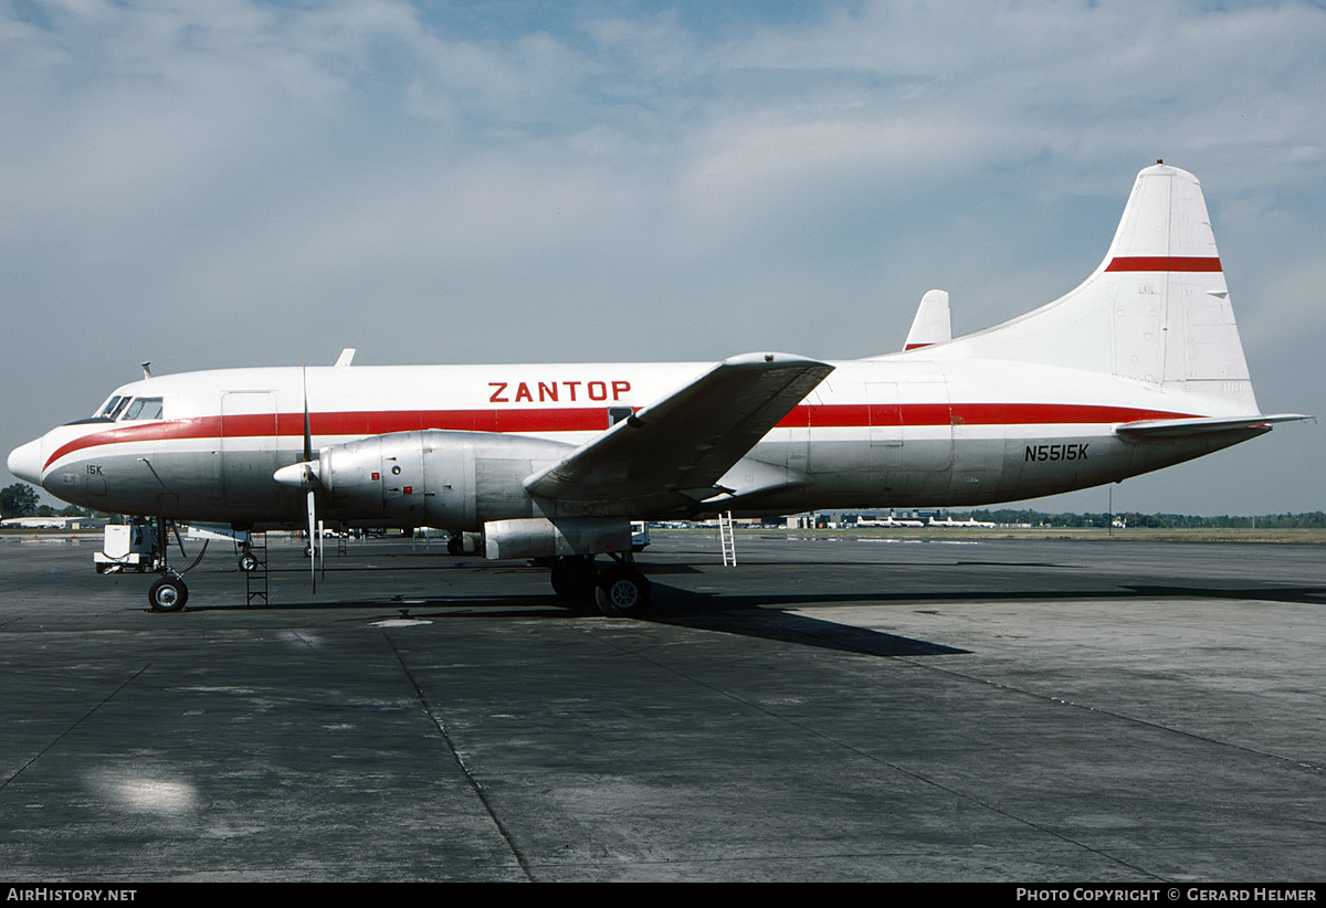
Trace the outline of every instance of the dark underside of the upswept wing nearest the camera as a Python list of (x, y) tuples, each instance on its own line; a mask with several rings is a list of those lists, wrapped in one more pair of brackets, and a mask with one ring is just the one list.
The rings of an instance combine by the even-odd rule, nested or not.
[(525, 489), (560, 510), (586, 513), (644, 514), (708, 498), (831, 371), (781, 353), (725, 359), (534, 473)]

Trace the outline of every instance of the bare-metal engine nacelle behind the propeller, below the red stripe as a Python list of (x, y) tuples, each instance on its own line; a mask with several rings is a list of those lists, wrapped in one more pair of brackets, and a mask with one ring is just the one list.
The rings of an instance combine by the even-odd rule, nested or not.
[(391, 432), (324, 448), (318, 479), (333, 516), (477, 530), (538, 517), (522, 482), (572, 449), (522, 435)]

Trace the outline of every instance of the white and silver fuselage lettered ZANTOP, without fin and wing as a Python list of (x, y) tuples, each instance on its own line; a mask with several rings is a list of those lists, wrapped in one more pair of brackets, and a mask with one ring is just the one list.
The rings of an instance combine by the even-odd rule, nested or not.
[[(1138, 444), (1115, 427), (1232, 414), (1215, 398), (1059, 366), (934, 361), (924, 350), (833, 366), (723, 477), (719, 485), (729, 492), (692, 513), (1029, 498), (1166, 467), (1264, 431)], [(272, 477), (304, 459), (305, 406), (314, 452), (422, 429), (522, 435), (570, 449), (705, 369), (708, 363), (337, 366), (163, 375), (115, 391), (150, 403), (138, 418), (127, 418), (134, 408), (122, 406), (118, 419), (58, 427), (17, 449), (9, 463), (53, 494), (97, 510), (300, 525), (300, 492)], [(528, 494), (496, 510), (503, 509), (514, 513), (489, 508), (475, 520), (541, 513)], [(329, 520), (358, 517), (338, 512), (334, 501), (322, 513)]]

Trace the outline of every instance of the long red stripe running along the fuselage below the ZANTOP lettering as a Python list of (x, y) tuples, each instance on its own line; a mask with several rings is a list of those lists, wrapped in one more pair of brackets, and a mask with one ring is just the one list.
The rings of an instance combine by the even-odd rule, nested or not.
[[(1070, 403), (904, 403), (800, 404), (778, 428), (867, 428), (924, 426), (1063, 426), (1115, 424), (1143, 419), (1188, 419), (1179, 414), (1138, 407)], [(318, 437), (363, 437), (389, 432), (452, 429), (465, 432), (598, 432), (607, 428), (603, 407), (511, 410), (387, 410), (310, 414)], [(200, 416), (160, 423), (119, 426), (90, 432), (60, 445), (42, 469), (76, 451), (134, 441), (215, 440), (304, 436), (304, 414)]]

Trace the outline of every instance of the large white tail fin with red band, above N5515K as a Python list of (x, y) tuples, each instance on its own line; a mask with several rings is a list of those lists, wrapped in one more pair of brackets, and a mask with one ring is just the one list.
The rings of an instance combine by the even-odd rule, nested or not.
[(1162, 163), (1138, 174), (1105, 261), (1075, 290), (934, 354), (1083, 369), (1258, 412), (1201, 184)]

